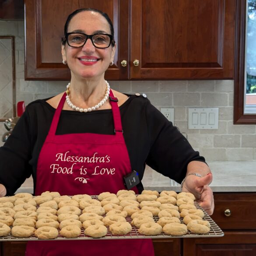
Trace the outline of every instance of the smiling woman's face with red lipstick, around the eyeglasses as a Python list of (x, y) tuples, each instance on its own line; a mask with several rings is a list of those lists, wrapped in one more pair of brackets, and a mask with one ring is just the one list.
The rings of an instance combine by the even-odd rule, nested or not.
[[(76, 14), (70, 21), (67, 32), (81, 32), (87, 35), (105, 33), (111, 34), (108, 21), (99, 13), (83, 11)], [(90, 39), (80, 48), (62, 46), (63, 60), (71, 70), (71, 74), (81, 78), (104, 77), (105, 70), (113, 61), (116, 45), (99, 49), (93, 46)], [(94, 60), (94, 61), (92, 61)], [(96, 61), (95, 61), (96, 60)]]

